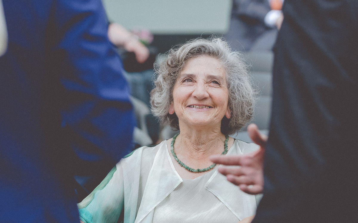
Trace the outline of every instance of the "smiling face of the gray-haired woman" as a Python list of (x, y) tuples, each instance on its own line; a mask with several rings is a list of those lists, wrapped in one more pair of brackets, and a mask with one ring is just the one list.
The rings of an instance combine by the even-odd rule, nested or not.
[(224, 67), (210, 56), (189, 59), (173, 89), (169, 114), (189, 126), (220, 127), (230, 118), (229, 94)]

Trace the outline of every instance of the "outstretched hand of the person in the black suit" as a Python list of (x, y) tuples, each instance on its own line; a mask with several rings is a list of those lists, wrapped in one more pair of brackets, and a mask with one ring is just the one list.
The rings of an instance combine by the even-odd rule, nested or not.
[(216, 164), (241, 166), (235, 168), (219, 167), (218, 171), (225, 175), (227, 180), (248, 194), (259, 194), (263, 190), (263, 156), (267, 136), (261, 135), (255, 124), (247, 127), (247, 132), (251, 140), (260, 146), (252, 153), (245, 155), (213, 155), (211, 161)]

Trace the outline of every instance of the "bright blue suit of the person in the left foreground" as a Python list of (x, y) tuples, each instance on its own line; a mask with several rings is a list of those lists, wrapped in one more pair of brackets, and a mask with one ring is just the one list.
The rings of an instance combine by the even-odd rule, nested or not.
[(0, 222), (77, 222), (74, 175), (130, 152), (134, 113), (100, 0), (3, 0)]

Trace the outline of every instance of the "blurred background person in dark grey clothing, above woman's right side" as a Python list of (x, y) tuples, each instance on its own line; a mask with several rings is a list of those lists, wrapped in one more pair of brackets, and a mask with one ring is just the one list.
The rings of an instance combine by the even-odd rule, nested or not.
[(271, 51), (282, 23), (282, 2), (233, 0), (229, 30), (223, 37), (237, 51)]

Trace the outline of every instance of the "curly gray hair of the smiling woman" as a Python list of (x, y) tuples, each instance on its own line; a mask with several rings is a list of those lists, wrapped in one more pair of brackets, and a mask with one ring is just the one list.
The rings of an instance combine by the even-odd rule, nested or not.
[(155, 88), (150, 92), (151, 111), (162, 123), (179, 130), (178, 117), (168, 112), (173, 102), (173, 88), (185, 63), (202, 55), (218, 59), (225, 69), (231, 118), (223, 117), (221, 132), (233, 134), (252, 118), (256, 91), (251, 87), (248, 65), (242, 54), (232, 51), (228, 43), (220, 38), (198, 38), (169, 50), (168, 58), (155, 70)]

